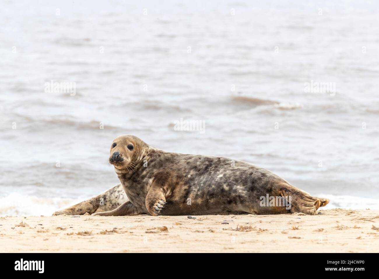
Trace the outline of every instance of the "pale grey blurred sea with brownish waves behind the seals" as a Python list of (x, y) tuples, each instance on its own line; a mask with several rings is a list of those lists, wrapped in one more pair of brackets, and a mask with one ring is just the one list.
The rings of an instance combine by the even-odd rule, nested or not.
[[(326, 208), (379, 209), (377, 1), (4, 0), (0, 11), (1, 216), (50, 215), (118, 183), (106, 159), (120, 134), (265, 167)], [(51, 80), (76, 95), (45, 92)], [(306, 92), (311, 81), (335, 95)], [(204, 134), (175, 131), (180, 118)]]

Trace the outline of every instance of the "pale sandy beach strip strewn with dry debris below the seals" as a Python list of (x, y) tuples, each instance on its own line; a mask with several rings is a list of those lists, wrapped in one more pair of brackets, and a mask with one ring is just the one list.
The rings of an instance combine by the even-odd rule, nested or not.
[(5, 216), (0, 252), (379, 252), (379, 210), (192, 217)]

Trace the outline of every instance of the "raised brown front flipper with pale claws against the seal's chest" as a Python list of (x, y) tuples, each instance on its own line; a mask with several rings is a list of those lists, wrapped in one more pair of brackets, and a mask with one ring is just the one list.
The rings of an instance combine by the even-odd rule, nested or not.
[(164, 210), (169, 178), (170, 175), (168, 173), (158, 173), (155, 175), (150, 189), (147, 192), (145, 205), (147, 211), (149, 211), (152, 216), (160, 215), (161, 210)]

